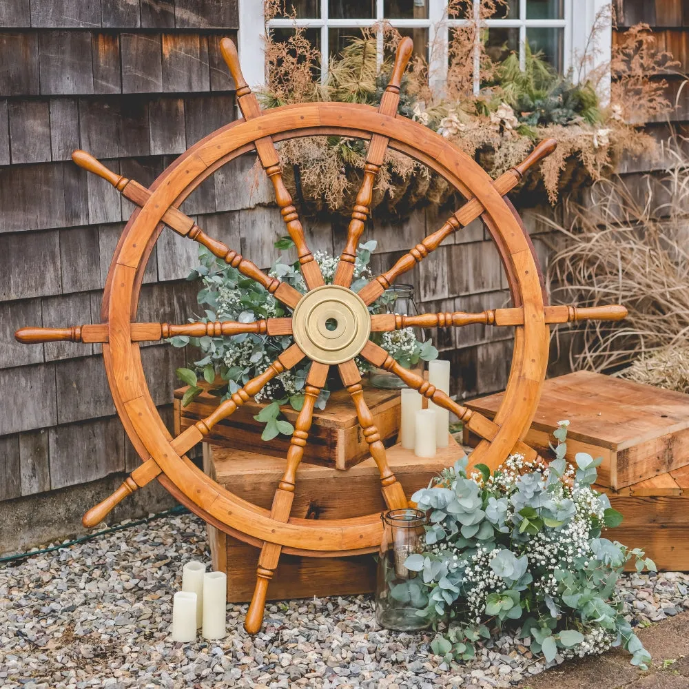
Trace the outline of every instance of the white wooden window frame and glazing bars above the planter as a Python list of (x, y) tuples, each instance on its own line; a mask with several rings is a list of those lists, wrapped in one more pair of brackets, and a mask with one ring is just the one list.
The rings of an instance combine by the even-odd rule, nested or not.
[[(524, 65), (524, 45), (526, 43), (527, 28), (562, 28), (564, 30), (563, 46), (563, 68), (564, 71), (575, 66), (577, 55), (583, 54), (586, 49), (586, 42), (593, 28), (593, 24), (599, 12), (609, 6), (610, 0), (564, 0), (563, 19), (526, 19), (526, 0), (520, 0), (520, 19), (488, 19), (484, 22), (486, 27), (491, 28), (518, 28), (520, 30), (520, 63)], [(385, 19), (395, 28), (425, 28), (429, 32), (429, 56), (431, 62), (429, 70), (431, 82), (435, 88), (441, 88), (447, 74), (447, 45), (449, 30), (453, 26), (462, 25), (466, 20), (448, 19), (446, 17), (447, 0), (429, 0), (429, 17), (426, 19), (387, 19), (384, 17), (384, 0), (376, 0), (376, 17), (373, 19), (328, 19), (328, 0), (320, 0), (319, 19), (271, 19), (268, 28), (303, 28), (320, 29), (320, 50), (323, 56), (329, 54), (328, 29), (329, 28), (365, 28), (375, 26)], [(574, 17), (576, 7), (577, 16)], [(263, 0), (239, 0), (240, 9), (240, 28), (239, 28), (239, 49), (240, 58), (247, 82), (251, 86), (261, 86), (265, 84), (265, 58), (263, 45), (265, 40), (265, 18), (263, 14)], [(474, 4), (475, 17), (478, 17), (479, 0)], [(610, 61), (610, 50), (612, 48), (612, 24), (608, 13), (608, 26), (597, 39), (595, 45), (596, 54), (593, 67), (608, 63)], [(382, 59), (382, 34), (378, 34), (379, 49), (378, 53)], [(478, 41), (475, 50), (475, 81), (474, 90), (478, 92), (480, 87), (478, 81)], [(435, 48), (433, 48), (435, 46)], [(575, 78), (577, 74), (574, 75)], [(582, 74), (581, 76), (586, 76)], [(321, 79), (327, 77), (327, 59), (322, 61)], [(609, 84), (609, 77), (603, 86), (606, 89)]]

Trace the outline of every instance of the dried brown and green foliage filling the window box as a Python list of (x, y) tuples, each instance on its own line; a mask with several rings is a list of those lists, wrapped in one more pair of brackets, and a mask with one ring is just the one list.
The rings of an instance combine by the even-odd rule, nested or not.
[[(267, 17), (285, 15), (285, 0), (268, 0)], [(449, 70), (442, 92), (429, 87), (429, 64), (414, 56), (402, 82), (400, 114), (449, 138), (469, 156), (477, 158), (491, 175), (498, 176), (516, 165), (538, 141), (557, 138), (555, 154), (541, 167), (542, 185), (555, 203), (564, 181), (568, 190), (584, 181), (600, 181), (610, 174), (622, 152), (631, 156), (656, 154), (655, 141), (639, 124), (669, 112), (664, 81), (658, 79), (677, 66), (672, 57), (657, 49), (648, 26), (638, 25), (621, 34), (608, 65), (593, 68), (597, 61), (596, 32), (608, 26), (606, 10), (597, 15), (584, 54), (579, 56), (579, 76), (559, 76), (541, 54), (526, 50), (526, 65), (511, 54), (496, 62), (486, 50), (485, 22), (504, 6), (504, 0), (451, 0), (447, 17), (464, 19), (452, 28), (448, 46)], [(609, 29), (608, 29), (609, 30)], [(331, 56), (325, 83), (320, 81), (320, 55), (299, 28), (285, 41), (266, 41), (269, 79), (260, 94), (264, 107), (307, 101), (342, 101), (378, 105), (391, 70), (376, 56), (376, 37), (382, 34), (386, 54), (401, 36), (384, 23), (364, 30), (338, 56)], [(440, 46), (431, 46), (431, 52)], [(436, 56), (431, 64), (437, 64)], [(474, 70), (479, 67), (481, 89), (475, 94)], [(606, 87), (604, 74), (613, 74), (611, 101), (602, 107), (599, 92)], [(361, 141), (320, 137), (282, 144), (282, 161), (294, 167), (292, 187), (316, 209), (345, 211), (360, 183), (366, 146)], [(583, 169), (583, 172), (582, 172)], [(378, 179), (376, 203), (395, 206), (409, 189), (422, 200), (413, 177), (422, 172), (431, 187), (447, 189), (419, 163), (389, 154)], [(289, 177), (289, 174), (288, 174)], [(532, 176), (531, 187), (536, 188)], [(300, 187), (301, 185), (301, 187)], [(443, 194), (437, 194), (444, 198)], [(409, 203), (404, 206), (409, 208)]]

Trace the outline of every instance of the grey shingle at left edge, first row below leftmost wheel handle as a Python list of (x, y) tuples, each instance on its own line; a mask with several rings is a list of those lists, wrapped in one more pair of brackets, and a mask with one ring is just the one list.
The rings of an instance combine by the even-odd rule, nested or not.
[(0, 369), (3, 390), (21, 390), (0, 411), (3, 434), (54, 426), (57, 422), (55, 364)]

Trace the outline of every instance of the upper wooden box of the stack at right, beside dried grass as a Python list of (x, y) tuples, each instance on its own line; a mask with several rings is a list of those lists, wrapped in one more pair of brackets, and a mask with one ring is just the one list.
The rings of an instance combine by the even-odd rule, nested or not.
[[(502, 393), (466, 402), (493, 418)], [(689, 464), (689, 395), (577, 371), (546, 380), (526, 444), (549, 456), (560, 420), (569, 420), (567, 458), (603, 457), (598, 483), (619, 491)], [(464, 444), (477, 438), (464, 431)]]

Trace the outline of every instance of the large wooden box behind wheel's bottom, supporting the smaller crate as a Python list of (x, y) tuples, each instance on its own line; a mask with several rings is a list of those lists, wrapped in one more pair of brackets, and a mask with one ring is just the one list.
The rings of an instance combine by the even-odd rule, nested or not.
[[(411, 495), (427, 486), (433, 476), (451, 466), (464, 450), (454, 441), (433, 457), (415, 457), (395, 445), (388, 450), (388, 462), (398, 480)], [(270, 508), (285, 462), (270, 455), (258, 455), (217, 445), (204, 444), (204, 468), (227, 489), (258, 506)], [(382, 512), (376, 464), (369, 457), (348, 471), (302, 464), (297, 474), (292, 515), (313, 520), (345, 519)], [(213, 568), (227, 572), (227, 599), (251, 599), (256, 584), (258, 548), (245, 544), (209, 526)], [(371, 593), (376, 588), (373, 555), (355, 557), (300, 557), (282, 555), (268, 587), (271, 600), (313, 596)]]

